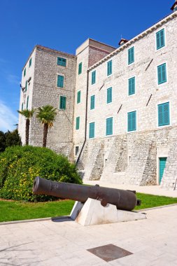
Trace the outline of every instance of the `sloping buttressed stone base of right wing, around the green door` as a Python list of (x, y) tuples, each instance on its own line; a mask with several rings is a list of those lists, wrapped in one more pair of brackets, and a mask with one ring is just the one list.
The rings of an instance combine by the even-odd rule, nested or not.
[(85, 180), (150, 186), (159, 184), (159, 158), (167, 157), (162, 187), (174, 188), (176, 133), (176, 127), (166, 127), (87, 140), (78, 168)]

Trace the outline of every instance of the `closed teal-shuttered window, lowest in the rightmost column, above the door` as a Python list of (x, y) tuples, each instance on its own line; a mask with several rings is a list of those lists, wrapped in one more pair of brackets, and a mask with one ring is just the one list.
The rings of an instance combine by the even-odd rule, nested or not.
[(169, 125), (169, 102), (158, 104), (158, 126)]

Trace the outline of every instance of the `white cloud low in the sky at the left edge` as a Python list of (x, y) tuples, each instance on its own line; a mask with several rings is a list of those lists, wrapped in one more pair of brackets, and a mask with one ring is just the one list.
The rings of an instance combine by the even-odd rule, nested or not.
[(6, 132), (8, 130), (15, 130), (18, 117), (14, 115), (13, 111), (0, 101), (0, 130)]

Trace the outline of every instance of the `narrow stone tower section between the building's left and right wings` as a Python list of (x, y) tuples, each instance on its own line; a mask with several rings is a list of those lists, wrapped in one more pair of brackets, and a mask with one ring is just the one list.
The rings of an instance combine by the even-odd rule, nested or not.
[[(91, 64), (99, 61), (108, 53), (115, 50), (115, 48), (104, 45), (92, 39), (88, 39), (80, 45), (76, 50), (77, 67), (76, 67), (76, 92), (75, 92), (75, 106), (74, 106), (74, 122), (73, 122), (73, 143), (74, 146), (78, 146), (78, 155), (85, 141), (85, 118), (86, 118), (86, 102), (87, 102), (87, 82), (91, 83), (91, 80), (87, 80), (87, 69)], [(82, 73), (78, 74), (78, 65), (82, 62)], [(77, 94), (80, 91), (80, 103), (77, 103)], [(90, 102), (88, 101), (88, 104)], [(76, 118), (80, 117), (80, 127), (76, 130)], [(78, 157), (75, 156), (75, 158)]]

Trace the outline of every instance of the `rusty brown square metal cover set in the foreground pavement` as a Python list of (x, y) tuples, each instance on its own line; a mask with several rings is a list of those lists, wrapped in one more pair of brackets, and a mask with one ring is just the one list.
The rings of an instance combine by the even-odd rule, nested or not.
[(97, 255), (97, 257), (107, 262), (133, 254), (113, 244), (108, 244), (105, 246), (98, 246), (97, 248), (90, 248), (90, 249), (87, 249), (87, 251), (90, 251), (94, 255)]

